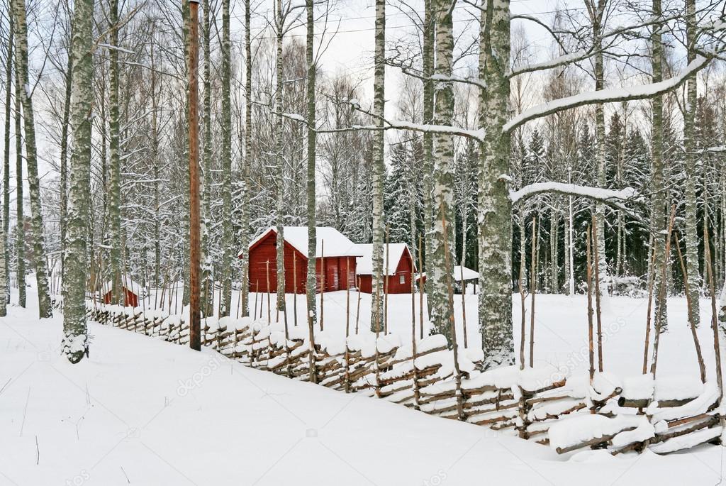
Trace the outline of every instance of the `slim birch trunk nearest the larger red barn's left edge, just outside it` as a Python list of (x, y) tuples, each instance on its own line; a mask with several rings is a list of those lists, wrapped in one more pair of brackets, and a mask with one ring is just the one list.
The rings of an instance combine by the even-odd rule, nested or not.
[[(242, 171), (242, 214), (240, 246), (245, 251), (242, 259), (242, 317), (250, 315), (250, 165), (252, 164), (252, 35), (250, 33), (250, 0), (245, 0), (245, 167)], [(257, 289), (255, 289), (257, 290)], [(315, 294), (313, 293), (313, 300)]]

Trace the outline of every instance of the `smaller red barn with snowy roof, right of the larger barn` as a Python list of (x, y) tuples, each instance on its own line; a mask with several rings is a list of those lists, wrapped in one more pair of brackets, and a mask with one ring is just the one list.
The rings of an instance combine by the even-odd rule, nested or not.
[[(358, 281), (360, 291), (373, 291), (373, 245), (356, 245), (362, 256), (358, 257)], [(411, 277), (416, 271), (411, 252), (406, 243), (388, 243), (388, 269), (386, 269), (386, 245), (383, 245), (383, 269), (386, 274), (384, 285), (388, 293), (411, 293)]]

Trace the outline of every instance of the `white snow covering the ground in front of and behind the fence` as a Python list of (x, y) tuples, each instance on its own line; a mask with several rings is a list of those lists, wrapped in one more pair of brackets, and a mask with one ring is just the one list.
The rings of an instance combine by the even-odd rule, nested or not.
[[(345, 293), (325, 299), (326, 327), (342, 333)], [(476, 296), (468, 299), (470, 343), (476, 344)], [(537, 299), (537, 359), (587, 368), (584, 299)], [(484, 427), (292, 381), (213, 352), (192, 352), (94, 323), (90, 360), (70, 365), (58, 356), (60, 318), (39, 322), (35, 296), (29, 301), (28, 311), (10, 307), (9, 317), (0, 319), (0, 485), (595, 486), (721, 480), (721, 447), (669, 456), (613, 458), (604, 451), (558, 456), (549, 447)], [(517, 296), (514, 302), (518, 325)], [(367, 305), (362, 299), (362, 326)], [(645, 300), (613, 298), (608, 307), (605, 369), (637, 374)], [(708, 309), (706, 301), (702, 308)], [(392, 329), (409, 333), (410, 312), (410, 296), (391, 296)], [(673, 299), (670, 315), (658, 372), (697, 373), (685, 301)], [(708, 326), (700, 332), (710, 371)]]

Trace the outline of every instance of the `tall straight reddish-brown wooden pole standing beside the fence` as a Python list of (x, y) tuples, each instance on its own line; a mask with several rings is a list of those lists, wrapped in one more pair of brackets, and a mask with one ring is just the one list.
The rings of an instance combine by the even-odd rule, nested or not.
[(189, 347), (200, 351), (199, 0), (189, 0)]

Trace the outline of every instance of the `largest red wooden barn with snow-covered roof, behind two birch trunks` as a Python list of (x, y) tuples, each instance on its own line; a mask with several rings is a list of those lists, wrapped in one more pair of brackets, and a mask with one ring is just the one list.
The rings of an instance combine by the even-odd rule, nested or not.
[[(325, 291), (340, 291), (355, 287), (356, 245), (331, 227), (316, 230), (316, 291), (321, 291), (325, 275)], [(285, 293), (305, 293), (308, 266), (308, 228), (285, 226)], [(270, 227), (255, 238), (245, 254), (249, 258), (250, 291), (277, 292), (277, 229)], [(325, 261), (325, 264), (323, 263)], [(322, 267), (325, 265), (325, 272)], [(269, 278), (269, 288), (267, 280)]]

